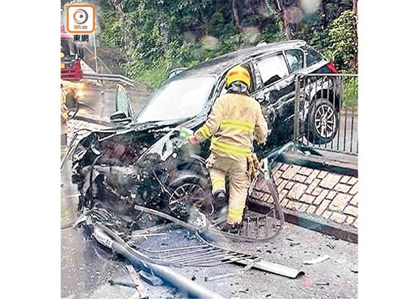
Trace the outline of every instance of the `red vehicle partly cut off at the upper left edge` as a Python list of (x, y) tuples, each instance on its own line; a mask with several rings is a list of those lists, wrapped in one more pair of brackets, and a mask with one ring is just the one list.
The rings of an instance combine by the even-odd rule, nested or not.
[(80, 61), (83, 52), (76, 43), (73, 36), (64, 30), (61, 25), (61, 79), (69, 81), (80, 81), (83, 78)]

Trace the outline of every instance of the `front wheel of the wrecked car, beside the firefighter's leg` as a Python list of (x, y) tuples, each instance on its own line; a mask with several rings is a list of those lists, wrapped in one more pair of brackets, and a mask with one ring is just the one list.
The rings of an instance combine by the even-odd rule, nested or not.
[[(167, 212), (178, 219), (187, 220), (191, 206), (202, 208), (211, 199), (209, 181), (203, 175), (190, 171), (181, 171), (167, 186), (170, 196), (167, 202)], [(205, 207), (210, 214), (213, 206)], [(206, 213), (205, 213), (206, 214)]]

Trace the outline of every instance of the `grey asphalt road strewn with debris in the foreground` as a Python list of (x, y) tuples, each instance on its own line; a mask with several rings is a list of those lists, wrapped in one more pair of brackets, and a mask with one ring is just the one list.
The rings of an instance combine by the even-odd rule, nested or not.
[[(76, 214), (77, 194), (69, 184), (68, 169), (62, 174), (62, 225), (71, 223)], [(184, 230), (153, 236), (142, 243), (151, 248), (167, 249), (187, 244)], [(357, 298), (358, 245), (331, 236), (286, 224), (273, 241), (245, 243), (228, 239), (212, 239), (212, 243), (233, 250), (262, 256), (272, 261), (301, 269), (305, 275), (296, 279), (250, 269), (240, 276), (205, 282), (205, 276), (242, 269), (238, 265), (217, 267), (183, 267), (176, 271), (194, 279), (225, 298)], [(329, 255), (314, 265), (303, 261)], [(62, 298), (129, 298), (135, 293), (130, 287), (112, 286), (108, 279), (130, 281), (124, 265), (129, 262), (104, 249), (84, 229), (61, 230), (61, 296)], [(185, 294), (164, 285), (152, 287), (146, 283), (150, 298), (185, 298)]]

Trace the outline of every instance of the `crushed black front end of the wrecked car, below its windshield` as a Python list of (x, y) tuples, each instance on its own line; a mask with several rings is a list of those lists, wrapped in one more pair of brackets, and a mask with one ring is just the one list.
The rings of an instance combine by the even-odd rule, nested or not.
[(91, 133), (73, 155), (72, 181), (80, 192), (79, 208), (108, 208), (131, 217), (136, 204), (186, 217), (181, 206), (172, 204), (173, 182), (190, 177), (205, 180), (200, 150), (189, 146), (179, 129), (171, 126)]

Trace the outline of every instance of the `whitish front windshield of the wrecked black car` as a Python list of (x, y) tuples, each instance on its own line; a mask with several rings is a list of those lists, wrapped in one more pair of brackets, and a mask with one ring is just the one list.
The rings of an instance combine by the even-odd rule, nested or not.
[(150, 100), (137, 122), (181, 120), (202, 111), (215, 78), (189, 78), (174, 80), (162, 87)]

